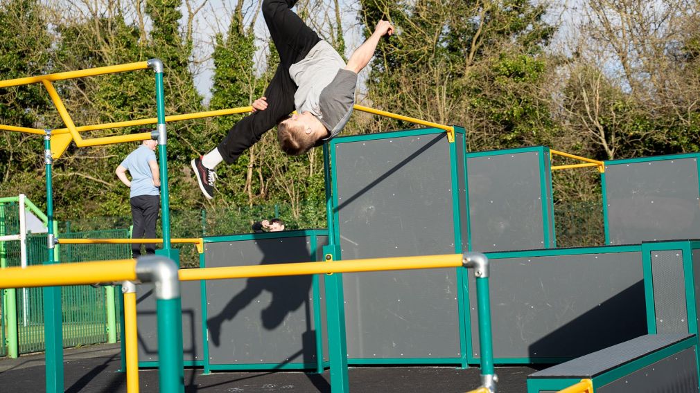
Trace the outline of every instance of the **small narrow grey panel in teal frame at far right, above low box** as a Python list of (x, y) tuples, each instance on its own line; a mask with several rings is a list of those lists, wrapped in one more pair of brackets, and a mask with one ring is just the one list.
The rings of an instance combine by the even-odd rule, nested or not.
[(682, 250), (652, 251), (657, 333), (687, 333)]

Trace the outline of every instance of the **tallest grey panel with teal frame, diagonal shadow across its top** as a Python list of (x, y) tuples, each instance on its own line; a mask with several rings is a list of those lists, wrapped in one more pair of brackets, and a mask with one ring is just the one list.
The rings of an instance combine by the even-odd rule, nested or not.
[[(425, 138), (426, 136), (428, 138)], [(466, 178), (463, 176), (466, 168), (465, 159), (463, 159), (465, 155), (464, 138), (464, 130), (457, 127), (455, 143), (447, 143), (443, 130), (430, 128), (332, 139), (328, 143), (330, 177), (332, 178), (330, 187), (332, 203), (329, 217), (334, 217), (334, 241), (335, 244), (340, 245), (341, 249), (335, 257), (355, 259), (428, 255), (461, 252), (461, 250), (468, 248), (468, 215), (466, 215), (465, 210), (467, 185)], [(347, 162), (348, 159), (353, 163)], [(424, 173), (422, 175), (415, 173), (421, 171), (433, 171), (430, 172), (433, 174), (425, 176)], [(439, 179), (444, 184), (429, 187), (425, 181), (421, 183), (416, 179)], [(431, 199), (430, 195), (420, 194), (426, 189), (430, 189), (428, 193), (435, 190), (435, 193), (442, 194), (440, 194), (439, 199)], [(395, 194), (393, 194), (394, 192)], [(409, 197), (408, 194), (412, 194), (416, 198), (410, 199), (412, 197)], [(410, 200), (405, 200), (407, 197)], [(426, 203), (422, 205), (419, 202), (421, 197), (426, 198)], [(427, 199), (434, 202), (432, 207), (427, 203)], [(353, 204), (351, 201), (358, 202)], [(391, 206), (389, 206), (390, 204)], [(376, 210), (372, 210), (372, 206)], [(408, 208), (409, 211), (404, 213), (398, 212), (401, 207), (405, 206), (414, 206), (414, 208)], [(366, 208), (365, 213), (353, 213), (355, 211), (353, 209), (356, 208)], [(395, 211), (391, 210), (392, 208), (395, 208)], [(430, 210), (431, 208), (433, 210)], [(428, 220), (429, 217), (426, 217), (425, 220), (408, 220), (412, 219), (411, 217), (415, 218), (416, 213), (426, 214), (426, 211), (432, 212), (434, 210), (440, 210), (437, 215), (431, 216), (434, 220)], [(377, 212), (377, 215), (374, 215), (374, 211)], [(390, 211), (391, 213), (389, 213)], [(365, 215), (363, 216), (363, 214)], [(358, 220), (356, 217), (365, 216), (370, 222), (358, 221), (356, 227), (352, 227), (353, 223), (348, 221)], [(386, 231), (380, 228), (381, 225), (377, 226), (380, 220), (374, 220), (380, 216), (384, 217), (387, 222), (393, 222), (391, 220), (395, 221), (398, 220), (397, 217), (401, 217), (402, 224), (397, 222), (393, 225), (395, 230)], [(442, 229), (438, 230), (439, 235), (435, 234), (432, 229), (421, 231), (420, 236), (418, 231), (414, 234), (414, 228), (419, 228), (423, 222), (431, 221), (442, 222)], [(374, 241), (372, 236), (374, 239), (381, 240)], [(433, 243), (433, 239), (437, 240)], [(392, 245), (391, 247), (371, 245), (373, 241), (374, 243), (383, 241), (392, 243)], [(367, 245), (368, 243), (370, 245)], [(360, 244), (361, 248), (358, 246)], [(416, 247), (419, 244), (421, 246)], [(461, 288), (465, 285), (463, 269), (430, 270), (344, 275), (343, 287), (346, 301), (344, 309), (348, 315), (346, 334), (349, 364), (458, 364), (463, 367), (467, 365), (465, 348), (466, 341), (468, 341), (468, 325), (465, 323), (463, 314), (468, 306), (461, 297), (463, 296), (461, 290), (456, 290), (449, 299), (451, 302), (449, 309), (450, 313), (454, 315), (454, 320), (452, 320), (452, 316), (447, 319), (445, 317), (430, 318), (433, 322), (425, 326), (430, 325), (430, 330), (433, 333), (426, 336), (426, 339), (419, 340), (417, 338), (421, 334), (418, 331), (425, 329), (415, 330), (398, 326), (380, 327), (381, 323), (385, 323), (381, 321), (386, 321), (388, 324), (393, 323), (391, 322), (392, 317), (387, 319), (386, 316), (401, 315), (401, 313), (406, 312), (412, 312), (414, 316), (423, 314), (419, 310), (423, 310), (422, 307), (430, 303), (430, 299), (438, 301), (438, 303), (448, 301), (448, 299), (437, 300), (437, 297), (434, 296), (437, 292), (430, 290), (431, 287), (437, 288), (434, 285), (444, 285), (448, 281), (449, 287)], [(426, 274), (432, 276), (420, 278), (421, 275)], [(440, 277), (441, 275), (447, 276)], [(411, 280), (418, 281), (413, 283)], [(423, 284), (421, 285), (419, 282)], [(395, 287), (392, 287), (392, 283), (395, 284)], [(393, 289), (389, 289), (389, 287)], [(421, 290), (416, 291), (416, 288), (421, 288)], [(377, 290), (386, 290), (386, 292), (391, 293), (391, 296), (370, 293)], [(414, 299), (418, 292), (421, 292), (421, 296), (418, 296), (420, 299)], [(441, 296), (444, 296), (444, 293), (443, 291)], [(363, 299), (364, 301), (383, 299), (382, 301), (386, 304), (379, 301), (380, 306), (377, 302), (372, 302), (374, 309), (370, 312), (367, 310), (372, 309), (372, 307), (359, 306), (359, 304), (364, 304), (362, 303)], [(412, 307), (416, 308), (409, 310)], [(442, 310), (440, 307), (432, 309), (440, 313)], [(381, 310), (385, 308), (386, 312), (382, 312)], [(357, 315), (360, 313), (359, 310), (362, 310), (363, 315)], [(444, 314), (440, 313), (440, 315)], [(440, 327), (434, 326), (435, 320), (440, 321)], [(357, 321), (362, 321), (363, 325), (358, 325)], [(400, 324), (398, 320), (395, 322)], [(370, 329), (370, 327), (379, 333), (373, 334), (367, 331), (366, 329)], [(443, 331), (444, 329), (449, 330), (449, 333), (435, 333), (435, 331)], [(393, 339), (397, 342), (395, 347), (382, 348), (380, 342), (386, 342), (381, 337), (382, 331), (385, 335), (391, 332)], [(362, 340), (358, 339), (358, 334), (363, 335)], [(412, 339), (410, 338), (412, 334), (418, 336)], [(430, 341), (443, 340), (446, 339), (445, 336), (454, 341), (449, 345), (449, 350), (446, 348), (427, 350), (433, 347)], [(368, 344), (368, 340), (377, 340), (377, 343)], [(360, 348), (356, 345), (360, 342), (365, 343), (366, 348)], [(419, 342), (422, 346), (407, 344), (411, 342)], [(421, 348), (419, 349), (419, 347)], [(440, 347), (440, 345), (434, 345), (434, 347)], [(374, 353), (377, 353), (377, 358), (372, 356)], [(452, 354), (454, 357), (450, 356)], [(370, 355), (371, 358), (368, 359), (367, 355)]]

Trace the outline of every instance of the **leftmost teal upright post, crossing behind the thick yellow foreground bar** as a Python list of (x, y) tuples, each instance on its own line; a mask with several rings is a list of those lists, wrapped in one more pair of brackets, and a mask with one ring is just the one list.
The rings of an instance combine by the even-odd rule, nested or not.
[[(51, 131), (44, 136), (44, 162), (46, 166), (46, 215), (48, 216), (48, 261), (55, 264), (55, 231), (53, 217), (53, 190), (51, 166)], [(46, 348), (46, 392), (63, 392), (63, 331), (61, 317), (61, 287), (43, 288), (44, 337)]]

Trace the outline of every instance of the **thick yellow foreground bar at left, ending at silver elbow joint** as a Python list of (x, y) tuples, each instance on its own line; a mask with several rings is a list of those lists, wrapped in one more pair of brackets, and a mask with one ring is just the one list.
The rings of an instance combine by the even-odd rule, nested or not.
[(136, 280), (136, 259), (12, 267), (0, 274), (0, 288), (85, 285)]

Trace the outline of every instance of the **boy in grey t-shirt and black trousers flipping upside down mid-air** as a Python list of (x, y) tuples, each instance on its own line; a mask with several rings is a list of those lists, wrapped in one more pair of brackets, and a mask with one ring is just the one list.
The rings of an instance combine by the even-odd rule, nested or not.
[[(379, 39), (394, 31), (391, 23), (379, 21), (372, 36), (345, 64), (329, 43), (290, 10), (296, 2), (262, 1), (279, 66), (265, 97), (253, 102), (253, 113), (237, 122), (217, 148), (192, 160), (197, 183), (207, 199), (214, 198), (216, 166), (222, 161), (236, 162), (275, 124), (280, 148), (289, 155), (300, 155), (339, 134), (353, 110), (358, 72), (369, 64)], [(297, 113), (289, 116), (295, 109)]]

